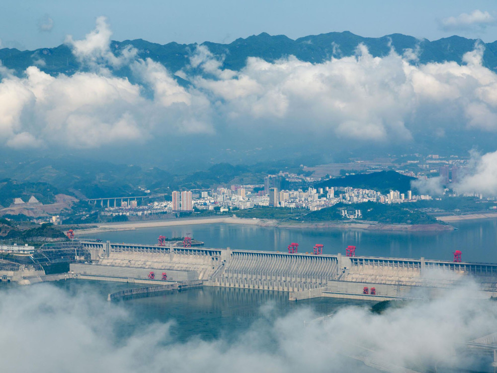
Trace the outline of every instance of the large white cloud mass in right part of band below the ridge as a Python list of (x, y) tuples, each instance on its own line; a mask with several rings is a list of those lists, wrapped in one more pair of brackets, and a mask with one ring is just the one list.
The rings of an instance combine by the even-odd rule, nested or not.
[(204, 50), (202, 58), (192, 57), (192, 64), (210, 66), (214, 77), (190, 80), (212, 101), (220, 100), (219, 109), (229, 118), (265, 119), (287, 129), (305, 126), (341, 138), (406, 141), (412, 138), (416, 115), (427, 110), (447, 110), (450, 118), (466, 116), (468, 127), (497, 129), (490, 115), (476, 118), (472, 109), (472, 104), (482, 103), (483, 91), (497, 92), (496, 74), (481, 64), (482, 46), (463, 57), (465, 65), (413, 66), (409, 61), (415, 59), (414, 51), (406, 56), (392, 51), (380, 58), (363, 45), (356, 53), (320, 64), (293, 56), (274, 63), (250, 57), (241, 71), (223, 74), (218, 59), (206, 62), (212, 56)]

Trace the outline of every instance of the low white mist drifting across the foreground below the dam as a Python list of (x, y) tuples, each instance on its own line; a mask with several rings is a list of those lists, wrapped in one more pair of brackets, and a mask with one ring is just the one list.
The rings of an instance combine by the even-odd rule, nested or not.
[[(265, 305), (246, 331), (213, 340), (173, 337), (174, 320), (145, 321), (139, 330), (123, 303), (50, 284), (3, 290), (0, 350), (6, 372), (371, 372), (433, 367), (475, 370), (482, 356), (467, 356), (465, 341), (497, 329), (496, 310), (476, 285), (429, 302), (410, 302), (382, 315), (346, 306), (321, 322), (307, 308), (275, 315)], [(307, 321), (304, 323), (304, 321)], [(143, 325), (142, 325), (143, 324)], [(457, 326), (457, 327), (455, 327)], [(29, 338), (26, 338), (29, 336)], [(393, 343), (392, 341), (395, 341)], [(29, 351), (29, 359), (26, 359)], [(84, 356), (84, 359), (81, 357)], [(40, 364), (43, 362), (43, 364)], [(417, 368), (417, 369), (416, 369)]]

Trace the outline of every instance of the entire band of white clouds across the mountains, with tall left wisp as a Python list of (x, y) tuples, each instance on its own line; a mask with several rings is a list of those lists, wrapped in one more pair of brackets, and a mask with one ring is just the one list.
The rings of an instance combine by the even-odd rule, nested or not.
[[(43, 143), (98, 147), (250, 128), (261, 136), (283, 129), (294, 138), (389, 144), (411, 142), (416, 133), (443, 139), (454, 128), (497, 131), (497, 75), (482, 66), (478, 43), (461, 65), (413, 65), (416, 50), (373, 57), (359, 45), (354, 56), (316, 64), (249, 57), (240, 71), (223, 69), (223, 56), (198, 46), (190, 66), (176, 73), (189, 83), (180, 85), (132, 47), (113, 52), (111, 35), (99, 17), (82, 40), (67, 38), (89, 72), (50, 76), (31, 66), (16, 77), (0, 65), (0, 141), (13, 144), (10, 139), (29, 133)], [(123, 67), (132, 82), (112, 74)]]

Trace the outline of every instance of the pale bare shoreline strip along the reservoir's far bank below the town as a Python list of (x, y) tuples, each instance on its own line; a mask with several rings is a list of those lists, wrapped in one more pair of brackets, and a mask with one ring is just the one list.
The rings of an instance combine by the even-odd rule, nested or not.
[(382, 230), (382, 231), (446, 231), (454, 228), (447, 224), (384, 224), (371, 221), (285, 221), (277, 219), (257, 219), (257, 218), (238, 218), (236, 216), (214, 217), (214, 218), (192, 218), (192, 219), (168, 219), (154, 221), (133, 221), (126, 223), (100, 224), (98, 227), (89, 229), (79, 229), (75, 231), (76, 236), (86, 234), (95, 234), (102, 232), (112, 232), (121, 230), (133, 230), (140, 228), (168, 227), (195, 224), (245, 224), (258, 225), (261, 227), (281, 227), (295, 229), (365, 229), (365, 230)]

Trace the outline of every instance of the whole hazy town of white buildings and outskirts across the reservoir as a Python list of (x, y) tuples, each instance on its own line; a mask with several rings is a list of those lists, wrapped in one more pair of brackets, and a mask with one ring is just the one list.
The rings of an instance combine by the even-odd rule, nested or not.
[[(421, 183), (428, 178), (438, 178), (441, 193), (433, 196), (428, 193), (415, 193), (413, 190), (399, 191), (390, 189), (383, 192), (379, 188), (360, 187), (307, 187), (307, 188), (287, 188), (291, 185), (317, 185), (327, 180), (345, 178), (347, 176), (370, 174), (392, 169), (391, 165), (373, 164), (370, 169), (362, 171), (340, 170), (341, 176), (331, 178), (330, 175), (316, 177), (322, 171), (320, 167), (313, 176), (304, 176), (296, 173), (280, 171), (278, 174), (264, 177), (263, 184), (239, 184), (231, 186), (220, 186), (216, 188), (191, 189), (182, 191), (172, 191), (171, 200), (154, 201), (152, 203), (140, 204), (140, 199), (124, 198), (105, 201), (101, 199), (101, 205), (105, 207), (102, 212), (104, 216), (145, 216), (150, 214), (164, 213), (186, 213), (192, 211), (215, 211), (227, 213), (230, 211), (245, 210), (254, 207), (281, 207), (291, 209), (306, 209), (317, 211), (323, 208), (341, 204), (357, 204), (364, 202), (375, 202), (380, 204), (401, 204), (427, 200), (441, 200), (449, 197), (476, 197), (483, 199), (481, 193), (465, 192), (457, 193), (451, 186), (457, 185), (465, 173), (468, 159), (461, 159), (458, 156), (441, 157), (438, 155), (428, 155), (420, 159), (408, 160), (406, 168), (397, 169), (400, 175), (416, 178)], [(363, 162), (358, 161), (356, 165), (361, 166)], [(368, 165), (368, 163), (365, 163)], [(330, 165), (330, 169), (334, 165)], [(150, 193), (150, 190), (145, 190)], [(487, 196), (486, 200), (495, 200), (494, 196)], [(95, 202), (96, 203), (96, 202)], [(495, 209), (495, 206), (491, 206)], [(341, 216), (345, 219), (356, 219), (362, 217), (362, 211), (358, 209), (342, 208)]]

